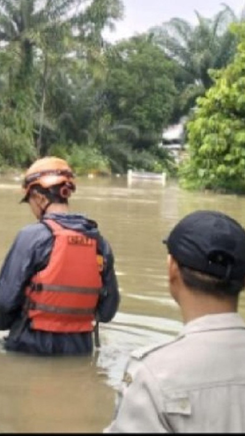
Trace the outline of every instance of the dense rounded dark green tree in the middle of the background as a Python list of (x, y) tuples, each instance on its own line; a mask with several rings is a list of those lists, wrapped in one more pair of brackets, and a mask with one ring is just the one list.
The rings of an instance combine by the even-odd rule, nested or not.
[(119, 42), (105, 55), (111, 127), (133, 149), (149, 149), (159, 142), (173, 108), (173, 65), (148, 35)]

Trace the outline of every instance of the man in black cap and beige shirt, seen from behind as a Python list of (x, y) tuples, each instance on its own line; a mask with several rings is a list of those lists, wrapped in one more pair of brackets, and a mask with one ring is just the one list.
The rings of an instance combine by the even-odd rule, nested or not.
[(132, 353), (104, 432), (242, 433), (245, 232), (225, 214), (197, 211), (163, 242), (184, 327), (175, 340)]

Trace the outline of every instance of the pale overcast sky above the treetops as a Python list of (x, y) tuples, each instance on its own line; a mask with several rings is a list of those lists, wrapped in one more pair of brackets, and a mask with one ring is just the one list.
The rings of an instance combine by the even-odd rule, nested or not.
[(111, 42), (129, 38), (135, 33), (143, 33), (159, 26), (170, 18), (184, 18), (195, 23), (194, 10), (205, 17), (212, 17), (222, 9), (222, 3), (229, 5), (239, 14), (245, 1), (242, 0), (122, 0), (125, 18), (118, 21), (116, 31), (105, 32), (104, 37)]

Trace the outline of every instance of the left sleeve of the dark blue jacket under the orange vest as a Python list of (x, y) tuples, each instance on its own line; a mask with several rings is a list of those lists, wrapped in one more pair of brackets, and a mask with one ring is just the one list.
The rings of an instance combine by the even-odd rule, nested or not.
[(20, 315), (24, 287), (47, 262), (51, 238), (42, 224), (26, 226), (16, 236), (0, 271), (0, 330), (9, 329)]

